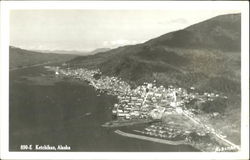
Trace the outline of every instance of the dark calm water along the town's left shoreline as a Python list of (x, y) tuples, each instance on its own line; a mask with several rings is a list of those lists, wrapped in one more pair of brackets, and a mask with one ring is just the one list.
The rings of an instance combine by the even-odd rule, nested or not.
[(116, 98), (86, 83), (55, 78), (43, 67), (10, 72), (10, 151), (20, 145), (68, 145), (71, 151), (182, 151), (171, 146), (120, 136), (101, 125), (111, 120)]

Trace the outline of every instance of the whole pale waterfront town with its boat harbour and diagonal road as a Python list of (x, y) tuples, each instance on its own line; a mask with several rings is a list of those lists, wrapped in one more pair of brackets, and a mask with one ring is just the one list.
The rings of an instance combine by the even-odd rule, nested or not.
[[(233, 146), (238, 149), (238, 146), (227, 141), (225, 135), (219, 130), (215, 130), (206, 121), (206, 118), (196, 116), (200, 110), (188, 109), (186, 105), (192, 100), (199, 103), (206, 103), (207, 101), (214, 101), (216, 98), (227, 99), (226, 96), (218, 93), (203, 93), (195, 92), (194, 87), (190, 87), (189, 91), (183, 88), (176, 88), (168, 86), (165, 88), (160, 85), (157, 86), (156, 81), (152, 83), (145, 82), (142, 85), (132, 88), (127, 82), (117, 77), (109, 77), (102, 75), (100, 70), (89, 70), (86, 68), (60, 68), (59, 66), (45, 66), (46, 69), (55, 72), (56, 76), (72, 77), (81, 81), (86, 81), (93, 86), (98, 92), (105, 92), (109, 95), (117, 96), (118, 102), (114, 104), (112, 109), (112, 117), (114, 121), (119, 122), (136, 122), (149, 120), (160, 120), (156, 124), (144, 128), (144, 130), (134, 130), (138, 134), (154, 136), (161, 139), (184, 140), (185, 142), (193, 142), (192, 135), (196, 134), (198, 137), (208, 137), (222, 141), (223, 143), (209, 143), (209, 151), (215, 150), (218, 146)], [(217, 116), (219, 113), (215, 112), (212, 116)], [(182, 125), (173, 122), (169, 124), (168, 117), (174, 116), (182, 121), (190, 122), (192, 125)], [(116, 123), (117, 124), (117, 123)], [(185, 123), (183, 123), (185, 124)], [(111, 125), (112, 126), (112, 125)], [(119, 125), (118, 125), (119, 126)], [(179, 126), (179, 127), (177, 127)], [(204, 138), (209, 141), (213, 138)], [(194, 139), (194, 138), (193, 138)], [(203, 144), (203, 145), (204, 145)], [(194, 144), (199, 145), (199, 144)], [(203, 147), (204, 148), (204, 147)]]

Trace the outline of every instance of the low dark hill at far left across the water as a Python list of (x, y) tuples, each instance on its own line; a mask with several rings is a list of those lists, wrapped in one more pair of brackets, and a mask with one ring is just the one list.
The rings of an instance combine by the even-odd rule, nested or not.
[(9, 68), (15, 69), (43, 63), (65, 62), (75, 57), (76, 55), (40, 53), (10, 46)]

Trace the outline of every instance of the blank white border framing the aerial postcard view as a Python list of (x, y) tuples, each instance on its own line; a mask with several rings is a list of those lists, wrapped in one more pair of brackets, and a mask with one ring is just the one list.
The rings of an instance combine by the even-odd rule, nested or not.
[[(13, 9), (240, 10), (242, 18), (242, 130), (237, 153), (191, 152), (9, 152), (9, 11)], [(0, 159), (248, 159), (249, 157), (249, 6), (243, 1), (4, 1), (1, 2), (1, 157)]]

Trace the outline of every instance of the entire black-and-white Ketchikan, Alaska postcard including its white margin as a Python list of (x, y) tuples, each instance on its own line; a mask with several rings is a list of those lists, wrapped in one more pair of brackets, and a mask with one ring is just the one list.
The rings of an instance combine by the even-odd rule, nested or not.
[(126, 4), (9, 7), (1, 148), (165, 156), (246, 149), (247, 3)]

